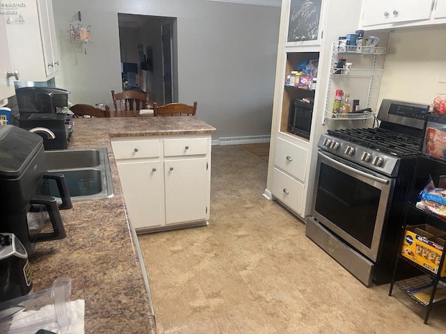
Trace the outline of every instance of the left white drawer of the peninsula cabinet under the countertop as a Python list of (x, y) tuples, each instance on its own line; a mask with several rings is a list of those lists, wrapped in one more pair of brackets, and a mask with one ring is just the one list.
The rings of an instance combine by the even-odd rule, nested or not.
[(114, 158), (138, 159), (160, 157), (160, 141), (112, 141)]

